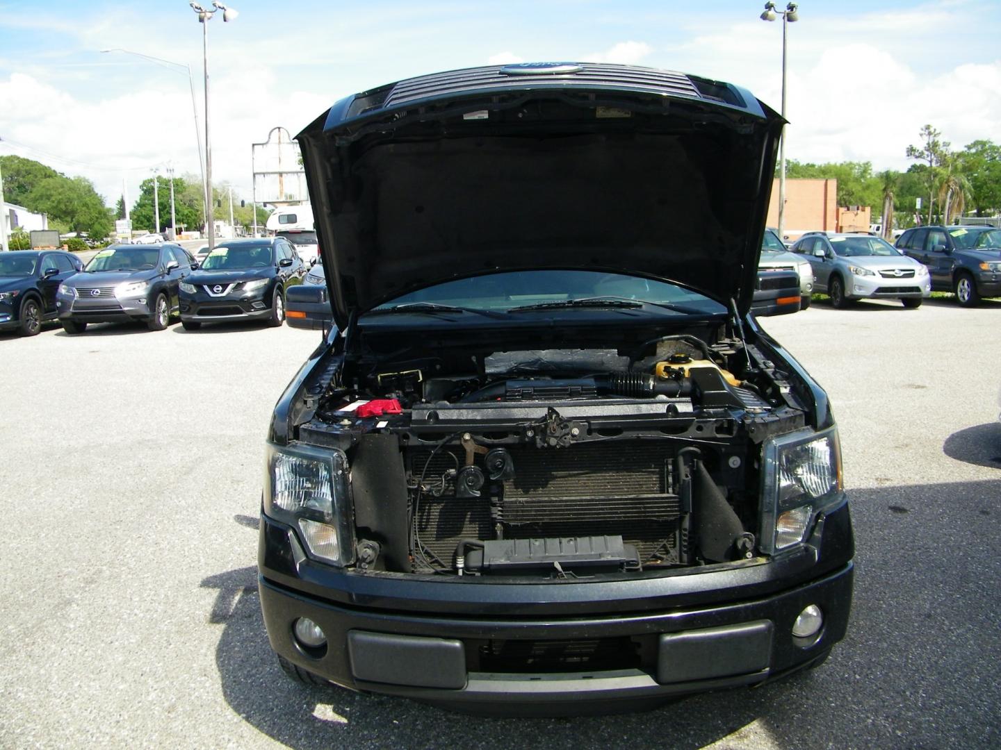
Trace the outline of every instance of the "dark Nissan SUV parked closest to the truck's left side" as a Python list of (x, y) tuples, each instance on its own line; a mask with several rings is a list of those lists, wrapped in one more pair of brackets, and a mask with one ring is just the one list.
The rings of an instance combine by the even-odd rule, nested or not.
[(225, 240), (180, 287), (181, 325), (285, 320), (285, 290), (302, 283), (306, 269), (282, 237)]

